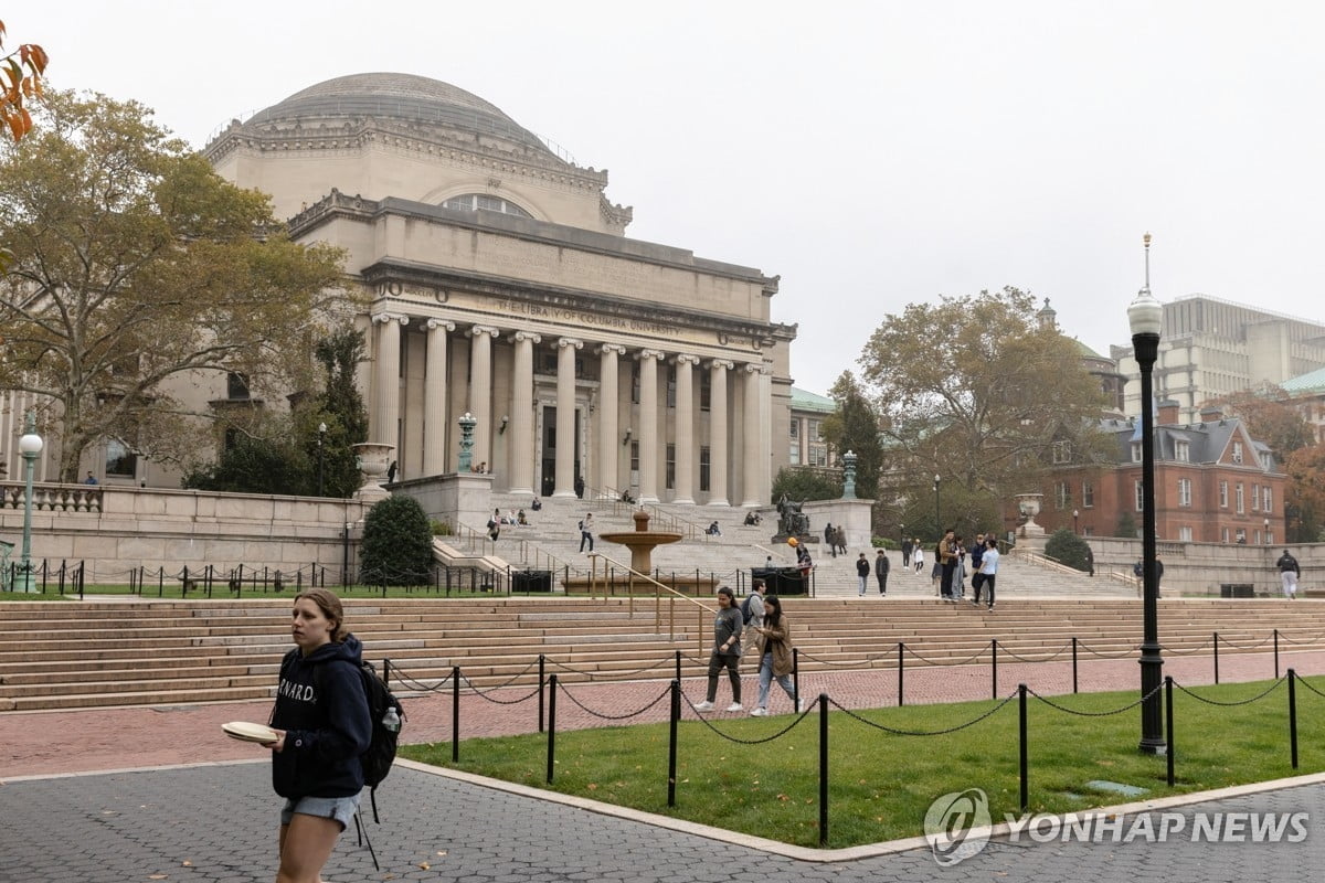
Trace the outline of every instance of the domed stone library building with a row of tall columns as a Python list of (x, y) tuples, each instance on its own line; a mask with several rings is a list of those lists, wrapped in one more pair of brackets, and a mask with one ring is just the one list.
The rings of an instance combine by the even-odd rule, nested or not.
[(497, 491), (768, 500), (795, 338), (770, 319), (778, 278), (625, 237), (606, 171), (392, 73), (310, 86), (205, 155), (295, 241), (348, 253), (370, 438), (395, 445), (398, 481), (456, 471), (469, 413)]

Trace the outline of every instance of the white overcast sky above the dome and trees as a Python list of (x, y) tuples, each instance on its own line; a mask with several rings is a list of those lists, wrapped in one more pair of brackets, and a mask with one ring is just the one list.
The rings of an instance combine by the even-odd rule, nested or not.
[(825, 392), (889, 312), (1014, 285), (1108, 355), (1161, 301), (1321, 320), (1325, 4), (1312, 0), (4, 3), (58, 87), (192, 144), (403, 71), (611, 172), (628, 234), (782, 277)]

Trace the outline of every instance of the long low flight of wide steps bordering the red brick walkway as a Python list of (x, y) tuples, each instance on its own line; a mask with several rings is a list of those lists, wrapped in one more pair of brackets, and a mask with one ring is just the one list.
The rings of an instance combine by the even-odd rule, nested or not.
[[(1071, 637), (1098, 654), (1134, 650), (1141, 639), (1134, 598), (1014, 597), (984, 612), (922, 597), (928, 577), (912, 579), (922, 585), (913, 597), (788, 600), (803, 670), (893, 667), (898, 642), (935, 663), (955, 663), (987, 658), (992, 639), (1032, 658)], [(292, 646), (289, 604), (4, 604), (0, 711), (270, 696)], [(367, 658), (391, 659), (405, 694), (436, 686), (452, 666), (477, 687), (533, 686), (539, 654), (549, 674), (566, 682), (670, 678), (677, 651), (682, 675), (694, 676), (704, 671), (712, 630), (712, 614), (693, 602), (652, 598), (347, 600), (346, 616)], [(1215, 631), (1220, 653), (1267, 651), (1275, 629), (1284, 651), (1325, 649), (1325, 604), (1316, 601), (1166, 598), (1159, 624), (1163, 646), (1178, 653), (1198, 651)]]

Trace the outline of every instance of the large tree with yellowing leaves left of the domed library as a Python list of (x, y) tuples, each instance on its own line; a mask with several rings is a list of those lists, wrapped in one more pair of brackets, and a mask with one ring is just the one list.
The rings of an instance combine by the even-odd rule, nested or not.
[[(57, 422), (60, 479), (106, 438), (159, 459), (199, 447), (171, 385), (241, 375), (254, 398), (310, 385), (307, 343), (339, 249), (292, 242), (266, 197), (221, 180), (135, 102), (46, 95), (0, 152), (0, 384)], [(48, 434), (52, 434), (48, 430)]]

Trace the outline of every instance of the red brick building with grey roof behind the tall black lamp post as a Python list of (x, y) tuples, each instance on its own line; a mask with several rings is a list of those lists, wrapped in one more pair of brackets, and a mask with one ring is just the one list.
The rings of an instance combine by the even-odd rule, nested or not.
[[(1178, 402), (1159, 402), (1154, 428), (1155, 530), (1159, 540), (1281, 543), (1284, 486), (1269, 449), (1238, 418), (1218, 408), (1198, 424), (1178, 422)], [(1071, 440), (1055, 442), (1044, 474), (1040, 515), (1045, 531), (1114, 536), (1141, 531), (1141, 421), (1105, 418), (1098, 429), (1116, 441), (1112, 465), (1077, 465)], [(1010, 527), (1011, 527), (1010, 522)]]

